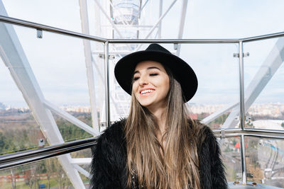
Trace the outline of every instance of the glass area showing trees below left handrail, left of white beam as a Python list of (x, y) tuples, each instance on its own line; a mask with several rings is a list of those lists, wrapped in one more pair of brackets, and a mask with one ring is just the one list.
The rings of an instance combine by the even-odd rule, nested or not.
[(58, 158), (0, 171), (0, 188), (70, 188), (72, 183)]

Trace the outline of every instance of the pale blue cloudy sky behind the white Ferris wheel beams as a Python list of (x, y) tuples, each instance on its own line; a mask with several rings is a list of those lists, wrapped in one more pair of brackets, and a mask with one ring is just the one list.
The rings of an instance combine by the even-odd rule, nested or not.
[[(1, 1), (1, 0), (0, 0)], [(9, 16), (26, 21), (51, 25), (81, 33), (79, 1), (21, 1), (2, 0)], [(150, 1), (141, 21), (154, 24), (158, 19), (158, 1)], [(163, 1), (163, 11), (173, 1)], [(90, 34), (96, 35), (94, 1), (88, 0)], [(162, 38), (177, 38), (182, 1), (178, 0), (162, 22)], [(284, 1), (188, 1), (182, 38), (218, 39), (246, 38), (284, 31)], [(151, 19), (150, 19), (151, 18)], [(106, 21), (104, 21), (107, 24)], [(100, 26), (101, 28), (104, 25)], [(26, 52), (35, 78), (43, 95), (56, 105), (89, 105), (84, 47), (82, 40), (54, 33), (43, 33), (36, 38), (30, 28), (14, 27)], [(107, 37), (102, 33), (101, 37)], [(143, 35), (143, 33), (142, 33)], [(268, 56), (277, 39), (244, 44), (245, 86)], [(102, 45), (91, 42), (102, 50)], [(173, 45), (164, 45), (173, 50)], [(233, 57), (238, 52), (234, 44), (182, 45), (180, 57), (197, 73), (199, 88), (191, 103), (232, 103), (239, 101), (239, 62)], [(116, 60), (114, 60), (116, 62)], [(103, 63), (99, 62), (99, 67)], [(271, 82), (256, 99), (257, 103), (284, 103), (283, 64)], [(103, 102), (102, 80), (96, 77), (97, 102)], [(189, 81), (190, 82), (190, 81)], [(26, 106), (21, 92), (14, 84), (9, 70), (0, 60), (0, 102), (15, 107)]]

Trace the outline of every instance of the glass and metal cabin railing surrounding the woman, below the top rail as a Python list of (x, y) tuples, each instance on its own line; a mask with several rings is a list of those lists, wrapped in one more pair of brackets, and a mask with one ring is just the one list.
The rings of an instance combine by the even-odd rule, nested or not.
[[(56, 151), (56, 145), (67, 149), (72, 141), (84, 143), (111, 122), (127, 117), (130, 96), (116, 84), (114, 66), (138, 47), (143, 50), (150, 42), (158, 42), (195, 70), (199, 88), (187, 104), (190, 116), (202, 120), (222, 138), (227, 180), (235, 185), (249, 181), (284, 187), (280, 182), (284, 159), (283, 61), (278, 57), (282, 52), (278, 40), (282, 38), (107, 40), (19, 20), (16, 24), (24, 27), (15, 26), (11, 25), (13, 18), (0, 20), (9, 22), (0, 22), (0, 30), (9, 28), (0, 36), (0, 167), (5, 165), (0, 186), (85, 187), (89, 149), (64, 151), (51, 159), (43, 155), (48, 153), (45, 149)], [(37, 38), (35, 28), (43, 30), (38, 31), (41, 38)], [(249, 52), (244, 62), (238, 58), (243, 43), (244, 55)], [(177, 44), (182, 45), (180, 51)], [(13, 45), (17, 48), (11, 49)], [(273, 51), (275, 48), (278, 52)], [(278, 66), (269, 66), (273, 60)], [(263, 70), (265, 74), (258, 74)], [(262, 83), (268, 77), (267, 84)], [(40, 154), (40, 150), (45, 152)], [(24, 156), (26, 152), (29, 158)], [(33, 153), (38, 156), (33, 157)]]

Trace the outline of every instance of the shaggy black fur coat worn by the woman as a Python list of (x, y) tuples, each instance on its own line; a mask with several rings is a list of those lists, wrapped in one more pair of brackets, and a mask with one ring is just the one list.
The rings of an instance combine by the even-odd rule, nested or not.
[[(197, 121), (195, 124), (202, 125)], [(126, 142), (123, 128), (124, 120), (115, 122), (97, 138), (97, 143), (92, 147), (90, 188), (127, 188)], [(220, 159), (221, 151), (216, 137), (206, 125), (202, 125), (202, 133), (205, 134), (205, 139), (198, 148), (202, 188), (227, 188), (224, 166)], [(131, 188), (135, 188), (134, 185), (137, 183), (134, 183)]]

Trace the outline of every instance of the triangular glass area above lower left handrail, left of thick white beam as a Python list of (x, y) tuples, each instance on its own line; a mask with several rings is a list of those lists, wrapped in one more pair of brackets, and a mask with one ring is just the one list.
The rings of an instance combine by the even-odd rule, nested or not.
[[(0, 33), (2, 26), (0, 23)], [(0, 155), (48, 145), (4, 59), (11, 53), (6, 48), (9, 45), (5, 43), (6, 36), (6, 33), (0, 35)]]

